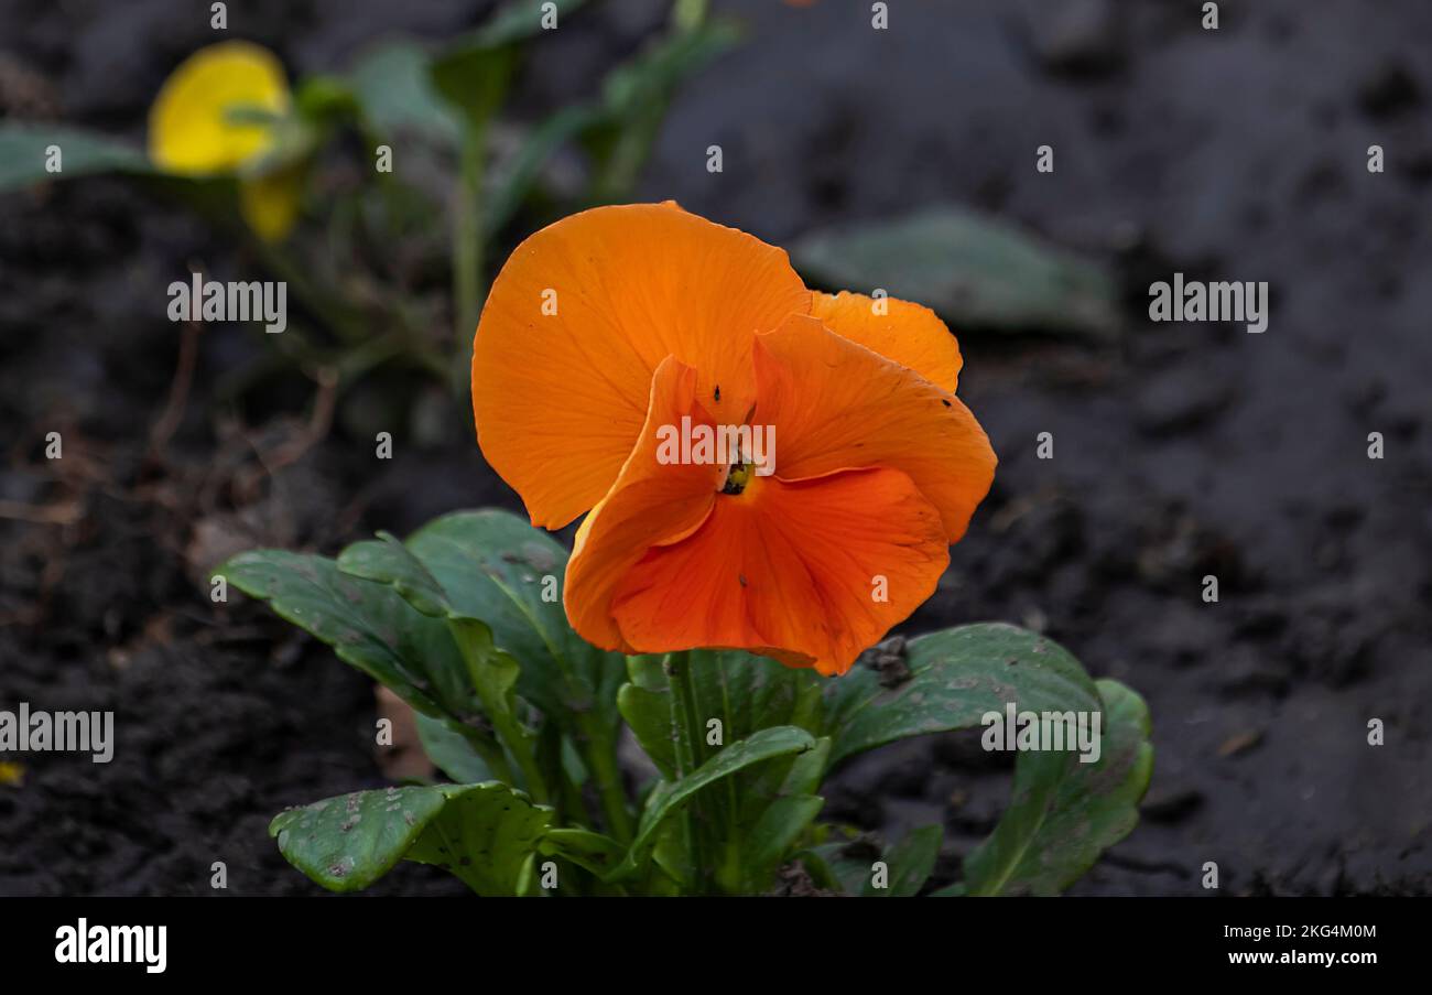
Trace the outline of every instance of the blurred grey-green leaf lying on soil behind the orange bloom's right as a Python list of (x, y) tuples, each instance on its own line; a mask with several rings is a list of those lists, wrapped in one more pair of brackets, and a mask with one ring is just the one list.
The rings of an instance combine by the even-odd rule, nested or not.
[(1113, 336), (1118, 286), (1101, 266), (954, 205), (806, 235), (796, 269), (832, 289), (934, 308), (957, 328)]

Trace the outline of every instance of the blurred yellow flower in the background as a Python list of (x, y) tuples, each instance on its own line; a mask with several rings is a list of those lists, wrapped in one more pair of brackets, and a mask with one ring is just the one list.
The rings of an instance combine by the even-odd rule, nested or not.
[[(249, 42), (199, 49), (165, 80), (149, 109), (149, 157), (179, 176), (222, 176), (252, 166), (276, 145), (263, 116), (289, 112), (288, 79), (278, 57)], [(241, 209), (261, 238), (278, 241), (298, 216), (292, 166), (241, 176)]]

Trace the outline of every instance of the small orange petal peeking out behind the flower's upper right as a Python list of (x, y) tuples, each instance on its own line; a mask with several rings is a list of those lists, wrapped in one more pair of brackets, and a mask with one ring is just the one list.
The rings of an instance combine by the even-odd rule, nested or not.
[[(884, 311), (884, 314), (878, 314)], [(951, 394), (959, 384), (959, 342), (929, 308), (868, 298), (863, 293), (813, 293), (811, 314), (842, 338), (914, 369)]]

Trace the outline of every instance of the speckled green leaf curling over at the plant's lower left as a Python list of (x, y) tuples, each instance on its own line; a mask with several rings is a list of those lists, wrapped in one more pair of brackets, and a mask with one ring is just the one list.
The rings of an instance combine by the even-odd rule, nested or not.
[(335, 892), (367, 888), (408, 859), (450, 870), (478, 895), (516, 895), (550, 820), (550, 809), (488, 782), (354, 792), (281, 813), (269, 836)]

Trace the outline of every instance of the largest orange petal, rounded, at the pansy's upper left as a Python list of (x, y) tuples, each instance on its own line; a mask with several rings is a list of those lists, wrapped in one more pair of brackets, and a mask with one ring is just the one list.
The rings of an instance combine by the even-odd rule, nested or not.
[(621, 470), (657, 364), (674, 355), (695, 367), (712, 414), (739, 422), (753, 399), (752, 338), (809, 311), (785, 251), (674, 203), (564, 218), (517, 246), (483, 308), (473, 342), (483, 454), (534, 525), (566, 525)]

